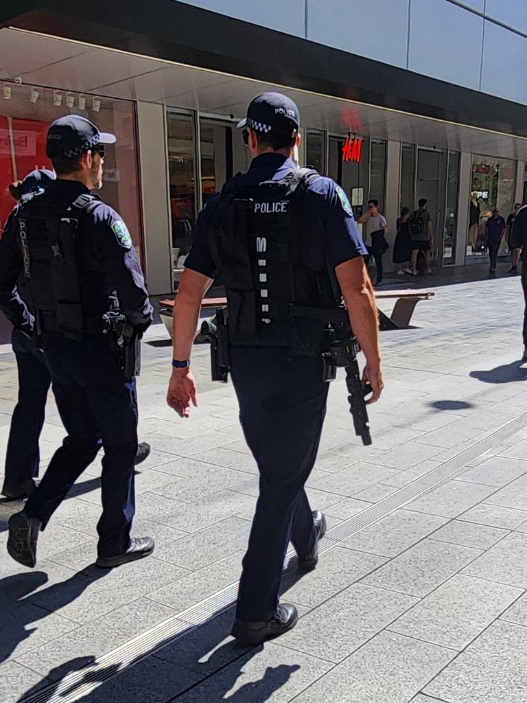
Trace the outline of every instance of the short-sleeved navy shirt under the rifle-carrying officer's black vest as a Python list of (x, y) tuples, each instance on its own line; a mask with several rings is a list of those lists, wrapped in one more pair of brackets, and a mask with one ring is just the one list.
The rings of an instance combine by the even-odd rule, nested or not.
[[(240, 186), (252, 186), (262, 181), (278, 181), (297, 166), (282, 154), (263, 153), (256, 156), (249, 171), (240, 179)], [(207, 243), (207, 229), (214, 218), (215, 206), (221, 193), (213, 195), (197, 218), (193, 245), (185, 260), (186, 269), (214, 278), (216, 266)], [(367, 254), (360, 236), (353, 211), (346, 194), (332, 179), (318, 176), (308, 186), (302, 205), (306, 220), (312, 223), (312, 236), (319, 236), (325, 243), (330, 264), (339, 266), (349, 259)]]

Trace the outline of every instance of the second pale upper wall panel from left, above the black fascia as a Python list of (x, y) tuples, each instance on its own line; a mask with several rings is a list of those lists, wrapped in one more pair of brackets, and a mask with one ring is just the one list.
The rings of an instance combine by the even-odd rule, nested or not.
[(408, 0), (308, 0), (307, 38), (406, 67)]

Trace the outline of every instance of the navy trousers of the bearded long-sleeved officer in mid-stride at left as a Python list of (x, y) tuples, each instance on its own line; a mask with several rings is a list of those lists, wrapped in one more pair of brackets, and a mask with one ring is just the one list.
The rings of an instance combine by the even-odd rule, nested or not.
[(129, 546), (135, 512), (135, 382), (124, 378), (103, 335), (86, 337), (82, 342), (48, 340), (44, 347), (67, 437), (53, 454), (26, 510), (42, 520), (44, 529), (79, 475), (96, 457), (102, 437), (103, 513), (97, 525), (98, 554), (121, 554)]

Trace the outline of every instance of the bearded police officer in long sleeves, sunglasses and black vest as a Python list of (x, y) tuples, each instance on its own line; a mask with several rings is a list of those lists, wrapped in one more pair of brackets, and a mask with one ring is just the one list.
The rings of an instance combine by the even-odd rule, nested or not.
[[(0, 310), (22, 334), (37, 334), (67, 432), (25, 509), (9, 519), (8, 553), (28, 567), (36, 565), (39, 531), (95, 458), (100, 437), (105, 456), (97, 564), (118, 566), (154, 549), (150, 537), (130, 536), (135, 382), (125, 377), (107, 334), (109, 321), (122, 314), (141, 335), (152, 307), (126, 224), (89, 195), (102, 186), (105, 145), (115, 141), (84, 117), (53, 122), (46, 153), (57, 179), (18, 209), (0, 241)], [(16, 295), (21, 274), (34, 316)]]

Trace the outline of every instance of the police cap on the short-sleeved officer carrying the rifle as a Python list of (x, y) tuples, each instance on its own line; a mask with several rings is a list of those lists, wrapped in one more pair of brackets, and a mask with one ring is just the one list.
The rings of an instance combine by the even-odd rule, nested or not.
[(261, 93), (249, 103), (247, 117), (238, 122), (238, 127), (293, 137), (300, 127), (300, 112), (291, 98), (282, 93)]

